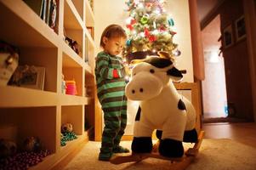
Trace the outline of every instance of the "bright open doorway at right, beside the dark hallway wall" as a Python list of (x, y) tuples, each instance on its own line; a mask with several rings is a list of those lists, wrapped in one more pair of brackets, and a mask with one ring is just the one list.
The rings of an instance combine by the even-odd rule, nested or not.
[(202, 81), (203, 120), (228, 116), (225, 65), (221, 47), (220, 16), (202, 30), (205, 80)]

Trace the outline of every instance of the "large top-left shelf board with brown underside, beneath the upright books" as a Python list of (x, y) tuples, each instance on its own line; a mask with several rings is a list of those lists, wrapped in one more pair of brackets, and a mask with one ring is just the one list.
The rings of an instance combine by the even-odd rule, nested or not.
[(23, 1), (1, 1), (0, 16), (5, 16), (0, 17), (0, 37), (15, 46), (54, 48), (60, 42), (54, 30)]

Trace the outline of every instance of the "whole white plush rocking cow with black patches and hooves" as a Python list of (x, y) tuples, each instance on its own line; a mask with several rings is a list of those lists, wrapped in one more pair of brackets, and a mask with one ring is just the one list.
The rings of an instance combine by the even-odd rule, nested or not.
[(128, 99), (139, 101), (132, 143), (134, 153), (151, 152), (151, 135), (155, 129), (162, 156), (181, 157), (184, 155), (182, 141), (197, 141), (196, 111), (173, 83), (182, 78), (168, 56), (151, 56), (134, 66), (125, 89)]

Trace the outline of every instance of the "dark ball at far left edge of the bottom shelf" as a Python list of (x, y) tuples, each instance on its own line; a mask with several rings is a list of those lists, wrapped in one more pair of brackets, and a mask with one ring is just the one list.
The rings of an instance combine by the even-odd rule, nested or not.
[(17, 151), (17, 145), (7, 139), (0, 139), (0, 159), (8, 156), (14, 156)]

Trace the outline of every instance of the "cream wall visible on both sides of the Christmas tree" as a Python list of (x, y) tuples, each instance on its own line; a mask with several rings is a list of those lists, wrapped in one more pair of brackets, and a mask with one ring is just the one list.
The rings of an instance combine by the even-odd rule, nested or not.
[[(96, 42), (96, 53), (100, 51), (100, 36), (106, 26), (110, 24), (119, 24), (125, 27), (125, 20), (128, 18), (128, 12), (125, 11), (127, 5), (125, 0), (95, 0), (95, 30), (94, 37)], [(179, 44), (181, 55), (177, 59), (177, 67), (180, 70), (186, 70), (184, 82), (193, 82), (193, 65), (191, 51), (191, 25), (189, 15), (189, 4), (187, 0), (168, 0), (165, 6), (168, 14), (171, 14), (175, 22), (174, 42)]]

